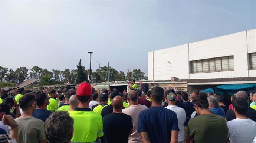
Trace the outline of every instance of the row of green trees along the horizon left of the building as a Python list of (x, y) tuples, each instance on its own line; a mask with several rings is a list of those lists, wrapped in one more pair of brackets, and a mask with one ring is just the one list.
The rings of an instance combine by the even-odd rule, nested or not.
[[(0, 81), (10, 82), (14, 84), (22, 83), (24, 80), (29, 78), (40, 79), (39, 84), (50, 85), (50, 84), (64, 84), (64, 83), (80, 83), (82, 81), (88, 81), (89, 69), (85, 69), (82, 66), (81, 59), (76, 66), (77, 69), (65, 69), (64, 71), (52, 69), (51, 71), (47, 69), (42, 69), (38, 66), (33, 66), (32, 69), (27, 69), (26, 67), (19, 67), (16, 70), (8, 69), (6, 67), (0, 66)], [(147, 79), (145, 73), (140, 69), (134, 69), (124, 73), (124, 71), (117, 71), (113, 67), (109, 67), (109, 81), (125, 81), (126, 79), (131, 80), (142, 80)], [(95, 71), (91, 70), (91, 83), (96, 82), (107, 82), (108, 81), (108, 67), (100, 67)]]

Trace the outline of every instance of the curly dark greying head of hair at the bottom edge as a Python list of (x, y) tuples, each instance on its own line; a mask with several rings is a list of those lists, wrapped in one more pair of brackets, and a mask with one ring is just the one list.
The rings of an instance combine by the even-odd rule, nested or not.
[(74, 119), (67, 111), (50, 114), (44, 125), (44, 134), (48, 143), (69, 143), (74, 130)]

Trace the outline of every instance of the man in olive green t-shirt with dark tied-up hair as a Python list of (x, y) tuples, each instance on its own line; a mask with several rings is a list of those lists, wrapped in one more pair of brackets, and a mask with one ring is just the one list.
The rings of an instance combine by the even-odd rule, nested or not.
[(209, 111), (207, 94), (196, 95), (193, 104), (198, 116), (188, 122), (186, 142), (190, 143), (194, 139), (196, 143), (226, 143), (227, 124), (223, 117)]

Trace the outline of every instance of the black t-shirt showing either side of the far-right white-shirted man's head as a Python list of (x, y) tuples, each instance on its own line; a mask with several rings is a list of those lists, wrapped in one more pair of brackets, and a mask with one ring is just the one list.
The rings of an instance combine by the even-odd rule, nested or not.
[[(255, 109), (248, 107), (248, 110), (246, 112), (246, 116), (247, 116), (247, 118), (256, 122), (256, 110)], [(227, 111), (227, 114), (226, 114), (225, 118), (226, 118), (227, 121), (231, 121), (233, 119), (236, 119), (236, 115), (234, 114), (232, 109), (229, 109)]]

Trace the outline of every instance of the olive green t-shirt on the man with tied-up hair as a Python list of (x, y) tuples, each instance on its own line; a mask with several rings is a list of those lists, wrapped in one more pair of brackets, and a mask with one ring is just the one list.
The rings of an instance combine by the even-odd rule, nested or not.
[(226, 143), (228, 130), (222, 116), (202, 114), (190, 119), (187, 136), (195, 143)]

